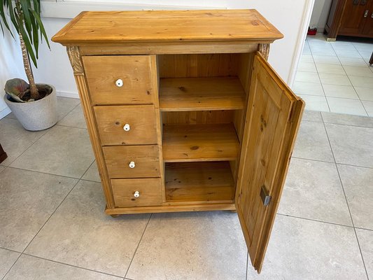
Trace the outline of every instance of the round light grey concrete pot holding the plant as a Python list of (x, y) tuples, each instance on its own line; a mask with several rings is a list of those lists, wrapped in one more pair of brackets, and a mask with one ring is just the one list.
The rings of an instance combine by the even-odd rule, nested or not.
[(56, 89), (52, 85), (49, 86), (52, 87), (52, 92), (33, 102), (13, 102), (8, 94), (5, 94), (4, 101), (26, 130), (46, 130), (57, 123)]

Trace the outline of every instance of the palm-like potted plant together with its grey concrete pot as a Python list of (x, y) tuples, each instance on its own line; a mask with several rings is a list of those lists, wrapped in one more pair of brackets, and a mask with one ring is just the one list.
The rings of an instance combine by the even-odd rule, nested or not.
[[(20, 39), (24, 71), (29, 83), (19, 78), (8, 80), (4, 100), (17, 120), (26, 130), (45, 130), (57, 123), (57, 97), (52, 85), (36, 84), (30, 59), (37, 67), (39, 41), (47, 34), (40, 18), (40, 0), (0, 0), (0, 26), (10, 31), (12, 27)], [(8, 20), (8, 15), (10, 20)]]

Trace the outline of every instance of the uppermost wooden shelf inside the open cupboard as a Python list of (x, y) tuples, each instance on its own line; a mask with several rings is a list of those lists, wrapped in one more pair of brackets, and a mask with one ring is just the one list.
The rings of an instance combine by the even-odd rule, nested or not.
[(237, 77), (161, 78), (161, 111), (244, 109), (245, 92)]

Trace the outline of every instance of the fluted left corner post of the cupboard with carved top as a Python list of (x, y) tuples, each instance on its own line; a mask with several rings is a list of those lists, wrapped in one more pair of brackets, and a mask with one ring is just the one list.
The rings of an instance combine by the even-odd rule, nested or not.
[(94, 119), (92, 102), (90, 100), (90, 94), (88, 92), (87, 80), (85, 79), (83, 63), (81, 61), (79, 49), (77, 47), (67, 47), (67, 53), (69, 55), (71, 66), (73, 67), (76, 85), (78, 86), (78, 92), (83, 108), (85, 122), (87, 123), (87, 129), (88, 133), (90, 134), (94, 157), (96, 158), (102, 188), (106, 197), (106, 207), (108, 209), (113, 209), (113, 193), (111, 192), (111, 184), (108, 179), (108, 172), (106, 170), (104, 154), (101, 150), (101, 143), (99, 141), (96, 120)]

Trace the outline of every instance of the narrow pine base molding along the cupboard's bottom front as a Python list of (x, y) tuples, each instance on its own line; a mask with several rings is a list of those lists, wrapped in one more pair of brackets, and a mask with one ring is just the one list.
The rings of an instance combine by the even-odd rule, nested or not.
[(216, 210), (231, 210), (235, 211), (234, 203), (230, 204), (195, 204), (195, 205), (172, 205), (172, 206), (157, 206), (157, 207), (123, 207), (108, 209), (105, 213), (111, 216), (120, 214), (142, 214), (142, 213), (164, 213), (164, 212), (193, 212), (193, 211), (216, 211)]

